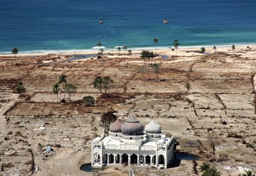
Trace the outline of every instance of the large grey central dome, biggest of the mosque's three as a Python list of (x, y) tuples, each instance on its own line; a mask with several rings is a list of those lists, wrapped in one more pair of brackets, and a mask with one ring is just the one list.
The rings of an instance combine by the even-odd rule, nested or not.
[(125, 135), (141, 135), (143, 134), (143, 125), (136, 118), (131, 117), (121, 125), (121, 132)]

